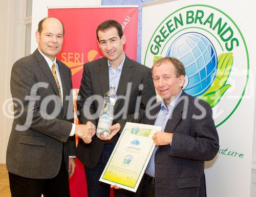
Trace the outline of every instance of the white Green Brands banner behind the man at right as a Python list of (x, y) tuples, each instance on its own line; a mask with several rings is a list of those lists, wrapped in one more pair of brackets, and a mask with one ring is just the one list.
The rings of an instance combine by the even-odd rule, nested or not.
[(142, 63), (151, 67), (161, 57), (180, 59), (186, 69), (183, 90), (209, 103), (214, 112), (220, 151), (205, 164), (210, 197), (250, 195), (252, 4), (180, 0), (142, 7)]

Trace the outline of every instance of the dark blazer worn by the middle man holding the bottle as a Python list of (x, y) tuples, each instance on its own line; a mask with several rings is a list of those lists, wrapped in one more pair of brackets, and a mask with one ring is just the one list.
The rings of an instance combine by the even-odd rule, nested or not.
[[(127, 88), (127, 84), (129, 82), (131, 82), (132, 86), (129, 102), (126, 103), (127, 111), (117, 116), (117, 114), (123, 109), (123, 106), (125, 106), (125, 102), (124, 100), (117, 100), (115, 104), (115, 117), (113, 123), (120, 123), (120, 131), (122, 131), (126, 121), (140, 121), (140, 115), (144, 113), (148, 100), (153, 97), (152, 103), (156, 103), (156, 92), (151, 77), (151, 69), (139, 64), (134, 60), (129, 59), (126, 56), (117, 89), (118, 96), (127, 94), (129, 91), (127, 90), (129, 89)], [(142, 89), (139, 89), (140, 84), (143, 85)], [(80, 99), (77, 99), (77, 109), (79, 112), (78, 118), (81, 124), (86, 124), (87, 121), (92, 121), (93, 124), (97, 127), (98, 116), (103, 103), (93, 102), (90, 106), (90, 104), (84, 102), (87, 101), (88, 97), (92, 95), (99, 95), (100, 97), (103, 97), (103, 95), (109, 89), (108, 60), (106, 58), (101, 58), (84, 64), (81, 86), (78, 93), (78, 96), (81, 97)], [(138, 110), (136, 110), (136, 100), (139, 97), (141, 97), (141, 102), (139, 102), (139, 106), (137, 106)], [(91, 114), (95, 114), (97, 110), (97, 117), (90, 117), (89, 112)], [(137, 118), (133, 115), (134, 113), (138, 115)], [(120, 134), (118, 133), (113, 137), (114, 143), (117, 142), (119, 136)], [(94, 136), (90, 144), (85, 144), (82, 140), (79, 140), (76, 149), (76, 155), (84, 165), (89, 168), (94, 168), (99, 161), (101, 152), (103, 150), (103, 145), (104, 141), (98, 139), (97, 136)]]

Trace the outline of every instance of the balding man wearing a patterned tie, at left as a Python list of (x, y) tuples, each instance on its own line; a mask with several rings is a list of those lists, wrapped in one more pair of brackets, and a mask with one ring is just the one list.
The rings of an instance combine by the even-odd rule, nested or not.
[(89, 143), (95, 133), (90, 122), (72, 123), (71, 71), (55, 58), (63, 36), (60, 20), (42, 19), (36, 32), (37, 50), (12, 67), (15, 114), (6, 161), (13, 197), (70, 196), (74, 134)]

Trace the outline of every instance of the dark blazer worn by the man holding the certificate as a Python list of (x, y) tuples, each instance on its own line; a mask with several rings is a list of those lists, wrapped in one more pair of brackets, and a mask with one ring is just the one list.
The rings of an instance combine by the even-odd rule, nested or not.
[[(161, 102), (151, 111), (158, 114)], [(205, 110), (205, 111), (204, 111)], [(205, 112), (202, 118), (195, 118)], [(154, 125), (156, 119), (144, 118)], [(204, 197), (204, 161), (214, 159), (219, 137), (208, 103), (182, 92), (164, 129), (173, 133), (172, 146), (159, 146), (155, 155), (156, 197)]]

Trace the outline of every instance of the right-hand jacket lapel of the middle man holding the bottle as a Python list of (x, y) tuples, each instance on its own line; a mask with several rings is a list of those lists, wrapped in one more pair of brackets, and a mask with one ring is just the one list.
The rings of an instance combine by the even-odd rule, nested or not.
[[(132, 64), (132, 62), (130, 61), (130, 59), (125, 56), (125, 60), (123, 63), (123, 68), (122, 68), (122, 72), (121, 72), (121, 76), (120, 76), (120, 80), (119, 80), (119, 84), (118, 84), (118, 89), (117, 89), (117, 96), (122, 96), (125, 94), (126, 90), (127, 90), (127, 84), (129, 82), (131, 82), (131, 78), (133, 76), (133, 72), (134, 72), (134, 65)], [(119, 106), (121, 100), (117, 100), (116, 104), (115, 104), (115, 110), (117, 109), (117, 107)]]

